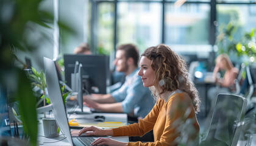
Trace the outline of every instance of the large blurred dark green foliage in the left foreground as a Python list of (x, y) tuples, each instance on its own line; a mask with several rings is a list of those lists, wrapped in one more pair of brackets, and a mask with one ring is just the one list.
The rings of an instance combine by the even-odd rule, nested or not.
[[(19, 113), (24, 132), (29, 136), (26, 145), (37, 145), (37, 112), (36, 100), (30, 81), (21, 68), (15, 66), (18, 59), (16, 50), (32, 52), (43, 45), (41, 40), (48, 39), (47, 32), (37, 33), (37, 39), (31, 41), (27, 30), (38, 29), (41, 26), (51, 29), (46, 24), (54, 17), (51, 13), (39, 9), (42, 0), (2, 0), (0, 2), (0, 86), (1, 89), (12, 89), (13, 98), (19, 103)], [(62, 30), (70, 31), (64, 24), (58, 22)], [(51, 40), (49, 40), (51, 41)], [(21, 144), (21, 143), (19, 143)]]

